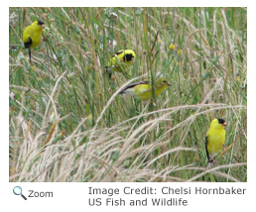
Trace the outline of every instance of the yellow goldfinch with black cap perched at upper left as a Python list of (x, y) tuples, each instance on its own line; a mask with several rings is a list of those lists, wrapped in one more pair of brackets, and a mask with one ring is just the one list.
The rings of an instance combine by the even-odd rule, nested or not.
[(34, 49), (39, 46), (41, 41), (41, 34), (44, 28), (44, 22), (36, 21), (32, 25), (28, 26), (23, 32), (23, 43), (25, 49), (29, 49), (30, 62), (31, 49)]

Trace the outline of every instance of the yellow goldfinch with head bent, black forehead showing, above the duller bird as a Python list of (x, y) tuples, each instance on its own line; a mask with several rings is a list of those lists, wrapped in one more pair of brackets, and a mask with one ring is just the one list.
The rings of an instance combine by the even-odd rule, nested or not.
[(111, 78), (112, 70), (124, 73), (132, 65), (135, 58), (136, 54), (132, 50), (121, 50), (115, 53), (106, 66), (109, 78)]

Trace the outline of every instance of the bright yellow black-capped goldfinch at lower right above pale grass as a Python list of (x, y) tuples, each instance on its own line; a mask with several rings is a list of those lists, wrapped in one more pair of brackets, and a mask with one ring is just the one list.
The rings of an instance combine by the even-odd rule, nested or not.
[(208, 158), (206, 167), (211, 167), (215, 163), (215, 156), (224, 147), (226, 132), (224, 127), (226, 126), (225, 120), (214, 119), (210, 123), (206, 138), (205, 138), (205, 149)]

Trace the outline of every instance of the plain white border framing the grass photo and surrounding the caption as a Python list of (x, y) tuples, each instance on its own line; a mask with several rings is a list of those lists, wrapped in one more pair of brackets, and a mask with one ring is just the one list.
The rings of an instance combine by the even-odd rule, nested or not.
[[(201, 1), (164, 1), (158, 0), (153, 2), (141, 2), (141, 1), (69, 1), (69, 2), (57, 2), (45, 0), (40, 1), (26, 1), (21, 2), (17, 0), (12, 0), (8, 2), (8, 7), (14, 6), (39, 6), (39, 4), (48, 5), (51, 7), (54, 6), (103, 6), (103, 7), (113, 7), (113, 6), (126, 6), (126, 7), (135, 7), (135, 6), (151, 6), (151, 7), (161, 7), (161, 6), (170, 6), (170, 7), (181, 7), (181, 6), (200, 6), (200, 7), (218, 7), (218, 6), (237, 6), (237, 7), (247, 7), (248, 14), (248, 182), (244, 183), (14, 183), (9, 182), (9, 126), (6, 124), (9, 120), (8, 113), (9, 111), (7, 98), (9, 98), (9, 89), (8, 89), (8, 53), (7, 48), (9, 49), (9, 38), (7, 37), (7, 32), (9, 28), (9, 8), (4, 7), (4, 11), (1, 13), (1, 74), (4, 74), (4, 77), (1, 77), (1, 97), (3, 98), (1, 104), (1, 131), (4, 133), (4, 137), (1, 140), (0, 148), (0, 161), (1, 161), (1, 211), (139, 211), (141, 209), (159, 209), (161, 211), (187, 211), (188, 209), (196, 211), (251, 211), (251, 208), (255, 208), (254, 199), (255, 197), (255, 143), (256, 138), (253, 134), (255, 131), (255, 79), (256, 79), (256, 70), (255, 70), (255, 7), (253, 6), (253, 1), (238, 1), (233, 0), (228, 1), (219, 1), (215, 0), (214, 2), (209, 2), (205, 0)], [(252, 3), (251, 3), (252, 2)], [(2, 2), (2, 4), (6, 4)], [(7, 47), (8, 46), (8, 47)], [(7, 97), (8, 95), (8, 97)], [(5, 98), (6, 97), (6, 98)], [(6, 99), (6, 101), (5, 101)], [(24, 195), (28, 195), (28, 190), (34, 189), (38, 191), (53, 191), (54, 198), (30, 198), (27, 201), (23, 200), (20, 196), (15, 196), (12, 192), (14, 186), (20, 185), (24, 190)], [(160, 189), (163, 186), (174, 186), (174, 187), (241, 187), (247, 188), (245, 195), (176, 195), (175, 197), (182, 197), (188, 199), (189, 206), (187, 207), (89, 207), (87, 187), (118, 187), (122, 189), (123, 186), (134, 186), (134, 187), (144, 187), (144, 186), (153, 186), (156, 189)], [(158, 195), (159, 197), (161, 194)], [(104, 197), (104, 195), (98, 195), (97, 197)], [(145, 198), (145, 196), (140, 195), (124, 195), (120, 194), (116, 196), (117, 198)], [(150, 196), (153, 197), (153, 196)], [(104, 197), (105, 198), (105, 197)]]

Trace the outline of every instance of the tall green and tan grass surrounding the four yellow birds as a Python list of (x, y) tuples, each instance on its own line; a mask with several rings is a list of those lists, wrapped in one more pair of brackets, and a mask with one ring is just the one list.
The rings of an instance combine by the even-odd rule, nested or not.
[[(247, 181), (247, 8), (9, 14), (10, 181)], [(21, 39), (36, 20), (46, 29), (31, 65)], [(137, 55), (131, 77), (109, 79), (104, 67), (123, 49)], [(172, 87), (154, 104), (117, 95), (159, 76)], [(229, 149), (205, 169), (218, 117)]]

